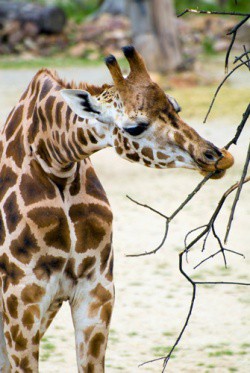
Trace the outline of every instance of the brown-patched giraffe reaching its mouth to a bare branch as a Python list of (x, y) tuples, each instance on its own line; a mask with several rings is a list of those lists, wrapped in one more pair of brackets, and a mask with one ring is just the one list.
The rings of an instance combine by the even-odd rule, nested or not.
[(222, 177), (233, 157), (189, 127), (133, 46), (112, 85), (40, 70), (0, 137), (0, 371), (38, 372), (39, 342), (64, 301), (79, 372), (104, 372), (114, 304), (112, 211), (89, 157), (113, 147), (147, 167)]

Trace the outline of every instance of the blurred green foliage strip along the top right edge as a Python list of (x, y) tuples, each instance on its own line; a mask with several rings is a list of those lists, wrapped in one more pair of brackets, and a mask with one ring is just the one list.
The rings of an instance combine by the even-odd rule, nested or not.
[(219, 0), (174, 0), (174, 4), (177, 13), (181, 13), (186, 8), (225, 12), (249, 12), (249, 1), (246, 0), (227, 0), (223, 6), (220, 5)]

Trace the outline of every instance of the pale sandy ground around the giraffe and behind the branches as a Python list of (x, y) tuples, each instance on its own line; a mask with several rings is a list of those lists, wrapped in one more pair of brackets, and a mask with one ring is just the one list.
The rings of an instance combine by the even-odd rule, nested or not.
[[(60, 70), (59, 70), (60, 71)], [(0, 71), (0, 107), (3, 123), (35, 71)], [(81, 78), (104, 82), (102, 69), (67, 69), (60, 73), (68, 79)], [(183, 117), (185, 117), (183, 113)], [(240, 121), (240, 118), (239, 118)], [(238, 122), (239, 122), (238, 121)], [(189, 123), (216, 145), (223, 146), (234, 134), (238, 122), (222, 118), (206, 126), (195, 119)], [(171, 223), (169, 237), (156, 254), (128, 258), (126, 254), (155, 248), (161, 241), (164, 221), (132, 204), (126, 194), (170, 215), (189, 194), (201, 176), (187, 170), (151, 170), (120, 159), (112, 149), (93, 157), (97, 173), (112, 205), (114, 222), (116, 304), (106, 357), (106, 371), (161, 372), (162, 363), (142, 367), (147, 360), (164, 356), (175, 342), (185, 321), (191, 301), (190, 284), (178, 270), (178, 253), (185, 233), (208, 221), (217, 201), (238, 180), (246, 156), (249, 130), (232, 149), (235, 166), (218, 181), (209, 181), (191, 204)], [(245, 255), (228, 254), (228, 269), (221, 255), (196, 271), (193, 266), (217, 251), (216, 242), (208, 242), (205, 253), (195, 248), (185, 270), (197, 281), (250, 282), (249, 185), (244, 187), (236, 210), (228, 248)], [(217, 224), (223, 234), (230, 209), (229, 199)], [(250, 371), (250, 288), (234, 285), (200, 285), (188, 328), (169, 362), (170, 373)], [(41, 349), (41, 373), (77, 371), (74, 331), (70, 310), (65, 304), (47, 331)]]

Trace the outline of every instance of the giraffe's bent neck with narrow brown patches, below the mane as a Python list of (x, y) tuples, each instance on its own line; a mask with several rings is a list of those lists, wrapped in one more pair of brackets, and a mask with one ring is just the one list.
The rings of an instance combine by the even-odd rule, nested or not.
[(30, 107), (25, 120), (29, 124), (25, 137), (47, 173), (69, 178), (77, 162), (111, 145), (109, 125), (78, 117), (63, 100), (57, 81), (46, 74), (37, 78), (36, 84), (32, 82), (28, 88)]

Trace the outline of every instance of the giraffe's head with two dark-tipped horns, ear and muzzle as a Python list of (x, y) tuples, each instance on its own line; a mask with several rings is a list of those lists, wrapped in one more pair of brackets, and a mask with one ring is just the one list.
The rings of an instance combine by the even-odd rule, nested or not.
[(203, 139), (179, 116), (177, 102), (154, 83), (140, 54), (133, 46), (123, 48), (130, 65), (125, 78), (113, 55), (106, 58), (114, 85), (99, 96), (87, 91), (63, 90), (69, 106), (82, 118), (95, 118), (108, 125), (109, 145), (132, 162), (148, 167), (216, 171), (220, 178), (233, 165), (225, 149)]

